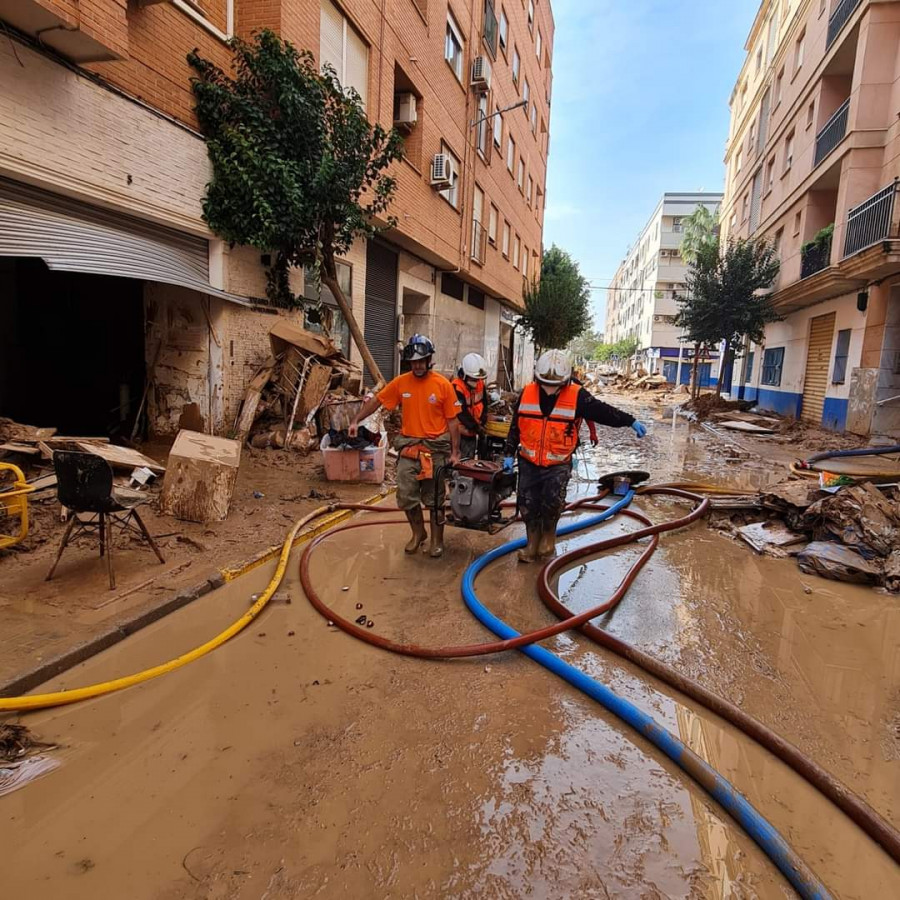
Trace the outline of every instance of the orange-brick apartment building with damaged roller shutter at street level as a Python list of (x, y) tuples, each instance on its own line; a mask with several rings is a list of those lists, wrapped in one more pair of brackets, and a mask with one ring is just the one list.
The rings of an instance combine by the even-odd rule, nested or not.
[[(398, 224), (341, 268), (384, 374), (421, 331), (439, 370), (477, 351), (522, 383), (533, 350), (513, 326), (540, 266), (549, 0), (0, 0), (0, 23), (0, 415), (124, 430), (149, 380), (155, 434), (226, 433), (275, 317), (304, 322), (266, 306), (261, 255), (201, 217), (210, 167), (186, 55), (227, 67), (228, 39), (260, 28), (405, 133)], [(437, 155), (450, 167), (435, 171)], [(294, 288), (312, 297), (300, 273)]]

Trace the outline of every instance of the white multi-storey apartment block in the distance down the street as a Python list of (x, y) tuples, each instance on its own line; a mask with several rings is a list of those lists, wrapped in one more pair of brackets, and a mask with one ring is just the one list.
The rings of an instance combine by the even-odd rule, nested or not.
[[(682, 222), (703, 206), (717, 214), (722, 194), (663, 194), (637, 240), (625, 256), (606, 295), (606, 340), (637, 341), (633, 361), (650, 373), (687, 384), (692, 348), (683, 347), (675, 326), (677, 297), (684, 292), (687, 265), (681, 258)], [(679, 355), (681, 367), (679, 370)], [(715, 354), (699, 364), (704, 386), (715, 383)]]

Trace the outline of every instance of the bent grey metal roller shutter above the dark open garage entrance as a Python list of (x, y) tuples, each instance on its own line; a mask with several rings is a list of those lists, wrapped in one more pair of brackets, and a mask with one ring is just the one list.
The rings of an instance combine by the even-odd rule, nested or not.
[(175, 284), (252, 305), (210, 285), (204, 238), (8, 179), (0, 179), (0, 256), (39, 257), (57, 272)]

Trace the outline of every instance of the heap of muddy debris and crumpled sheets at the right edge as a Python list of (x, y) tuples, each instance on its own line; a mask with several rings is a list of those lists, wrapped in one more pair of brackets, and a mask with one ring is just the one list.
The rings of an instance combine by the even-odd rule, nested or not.
[(757, 553), (796, 557), (807, 574), (900, 593), (895, 488), (863, 483), (823, 490), (815, 481), (789, 479), (767, 488), (755, 503), (714, 502), (709, 524)]

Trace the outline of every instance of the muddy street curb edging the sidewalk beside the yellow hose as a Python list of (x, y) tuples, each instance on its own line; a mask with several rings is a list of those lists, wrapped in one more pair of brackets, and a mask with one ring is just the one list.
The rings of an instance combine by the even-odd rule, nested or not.
[[(376, 494), (374, 497), (369, 497), (362, 502), (364, 504), (377, 503), (391, 493), (393, 493), (393, 490), (382, 492)], [(294, 538), (291, 550), (312, 540), (323, 531), (328, 531), (328, 529), (332, 528), (334, 525), (346, 521), (354, 514), (355, 510), (350, 509), (335, 510), (334, 512), (329, 513), (321, 519), (318, 524), (298, 534), (297, 537)], [(18, 675), (11, 681), (0, 684), (0, 697), (18, 697), (21, 694), (33, 690), (39, 684), (43, 684), (45, 681), (55, 678), (57, 675), (61, 675), (63, 672), (74, 668), (101, 651), (108, 650), (113, 645), (118, 644), (119, 641), (123, 641), (129, 635), (140, 631), (142, 628), (146, 628), (148, 625), (152, 625), (154, 622), (158, 622), (164, 616), (187, 606), (189, 603), (193, 603), (194, 600), (222, 587), (228, 582), (240, 578), (241, 575), (246, 575), (247, 572), (251, 572), (253, 569), (258, 568), (273, 559), (277, 559), (281, 555), (283, 546), (284, 544), (277, 544), (257, 553), (255, 556), (250, 557), (250, 559), (243, 563), (239, 563), (237, 566), (219, 569), (218, 572), (204, 581), (189, 587), (181, 588), (158, 606), (154, 606), (152, 609), (143, 610), (142, 612), (135, 614), (133, 618), (120, 622), (118, 625), (109, 628), (107, 631), (89, 638), (83, 644), (79, 644), (70, 650), (66, 650), (64, 653), (60, 653), (52, 659), (44, 660), (23, 675)]]

